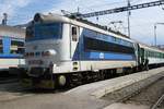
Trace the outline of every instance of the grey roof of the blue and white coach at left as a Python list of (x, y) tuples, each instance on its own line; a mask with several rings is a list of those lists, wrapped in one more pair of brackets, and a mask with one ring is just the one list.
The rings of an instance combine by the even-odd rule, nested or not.
[(13, 26), (0, 25), (0, 36), (25, 38), (25, 29)]

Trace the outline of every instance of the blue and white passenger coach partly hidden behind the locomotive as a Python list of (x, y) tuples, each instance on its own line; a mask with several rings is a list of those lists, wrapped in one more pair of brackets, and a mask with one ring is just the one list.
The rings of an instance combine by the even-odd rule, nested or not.
[(25, 64), (24, 40), (24, 29), (0, 25), (0, 71)]

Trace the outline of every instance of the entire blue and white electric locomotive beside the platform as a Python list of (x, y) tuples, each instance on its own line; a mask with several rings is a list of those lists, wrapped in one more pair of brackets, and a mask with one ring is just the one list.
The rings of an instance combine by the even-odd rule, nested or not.
[(44, 88), (109, 78), (138, 70), (147, 60), (145, 47), (134, 40), (58, 14), (35, 15), (26, 28), (25, 48), (22, 82)]

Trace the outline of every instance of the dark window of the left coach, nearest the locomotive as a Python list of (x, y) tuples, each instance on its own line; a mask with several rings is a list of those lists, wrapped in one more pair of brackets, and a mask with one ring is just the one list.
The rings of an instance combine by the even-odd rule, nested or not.
[(10, 52), (14, 55), (24, 53), (24, 41), (11, 40)]

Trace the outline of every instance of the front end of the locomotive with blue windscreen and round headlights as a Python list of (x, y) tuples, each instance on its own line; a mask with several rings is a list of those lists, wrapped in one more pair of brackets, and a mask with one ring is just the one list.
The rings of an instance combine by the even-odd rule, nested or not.
[(26, 28), (24, 83), (34, 87), (54, 87), (54, 66), (61, 60), (61, 22), (43, 22), (39, 14)]

